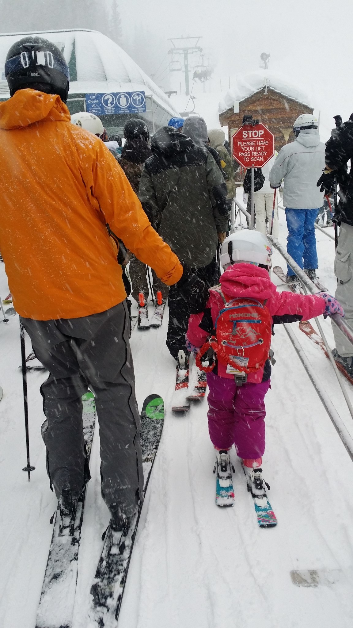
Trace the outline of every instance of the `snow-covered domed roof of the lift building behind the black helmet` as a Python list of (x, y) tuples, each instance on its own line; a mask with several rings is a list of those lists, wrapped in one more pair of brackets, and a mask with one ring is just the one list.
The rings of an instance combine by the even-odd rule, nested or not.
[[(171, 116), (178, 116), (168, 97), (114, 41), (98, 31), (62, 30), (30, 33), (40, 35), (62, 50), (67, 63), (75, 45), (77, 76), (70, 80), (70, 96), (89, 92), (141, 91), (153, 96), (155, 102)], [(9, 95), (4, 77), (6, 55), (11, 45), (28, 33), (0, 35), (0, 95)], [(75, 80), (76, 79), (76, 80)]]

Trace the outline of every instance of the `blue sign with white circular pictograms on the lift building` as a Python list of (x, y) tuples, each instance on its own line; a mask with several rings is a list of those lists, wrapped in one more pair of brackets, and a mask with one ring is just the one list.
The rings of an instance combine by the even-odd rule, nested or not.
[(107, 92), (86, 94), (86, 111), (96, 116), (146, 113), (144, 92)]

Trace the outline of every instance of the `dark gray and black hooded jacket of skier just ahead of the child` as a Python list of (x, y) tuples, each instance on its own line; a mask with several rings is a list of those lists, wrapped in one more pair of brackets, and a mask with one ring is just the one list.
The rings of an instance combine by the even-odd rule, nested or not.
[(161, 127), (151, 140), (139, 200), (151, 224), (172, 251), (192, 268), (210, 264), (217, 232), (228, 228), (224, 178), (212, 154), (172, 127)]

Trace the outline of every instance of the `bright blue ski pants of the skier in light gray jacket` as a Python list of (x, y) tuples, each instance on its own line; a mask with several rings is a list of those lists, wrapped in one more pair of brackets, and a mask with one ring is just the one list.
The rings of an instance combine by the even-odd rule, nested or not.
[[(314, 225), (319, 209), (319, 207), (317, 209), (286, 208), (287, 252), (300, 268), (318, 267)], [(288, 266), (288, 274), (295, 274), (290, 266)]]

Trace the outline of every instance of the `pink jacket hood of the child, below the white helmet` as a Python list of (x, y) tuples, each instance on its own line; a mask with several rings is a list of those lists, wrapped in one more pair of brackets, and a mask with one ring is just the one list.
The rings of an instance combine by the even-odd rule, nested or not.
[(276, 293), (276, 286), (264, 268), (253, 264), (233, 264), (220, 278), (222, 292), (228, 298), (248, 297), (266, 301)]

